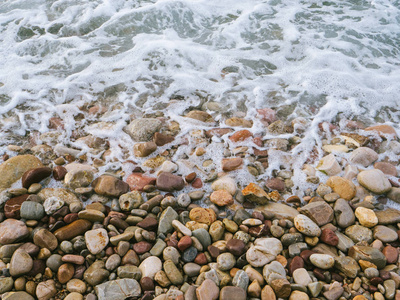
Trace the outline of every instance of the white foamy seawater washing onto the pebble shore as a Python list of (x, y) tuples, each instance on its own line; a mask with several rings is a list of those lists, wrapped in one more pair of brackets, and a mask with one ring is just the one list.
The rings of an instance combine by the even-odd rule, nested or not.
[[(179, 144), (184, 133), (208, 129), (182, 115), (212, 102), (216, 120), (245, 116), (262, 135), (257, 109), (304, 117), (303, 140), (292, 150), (299, 169), (322, 145), (320, 122), (398, 130), (400, 121), (399, 1), (5, 0), (0, 45), (0, 152), (49, 131), (48, 119), (59, 117), (58, 144), (79, 148), (71, 138), (79, 128), (107, 138), (122, 160), (124, 149), (131, 154), (122, 129), (132, 116), (177, 120)], [(76, 118), (92, 104), (108, 112)], [(214, 142), (207, 155), (217, 161), (217, 142), (227, 141)], [(271, 158), (263, 176), (281, 163)], [(305, 184), (296, 171), (295, 179)]]

